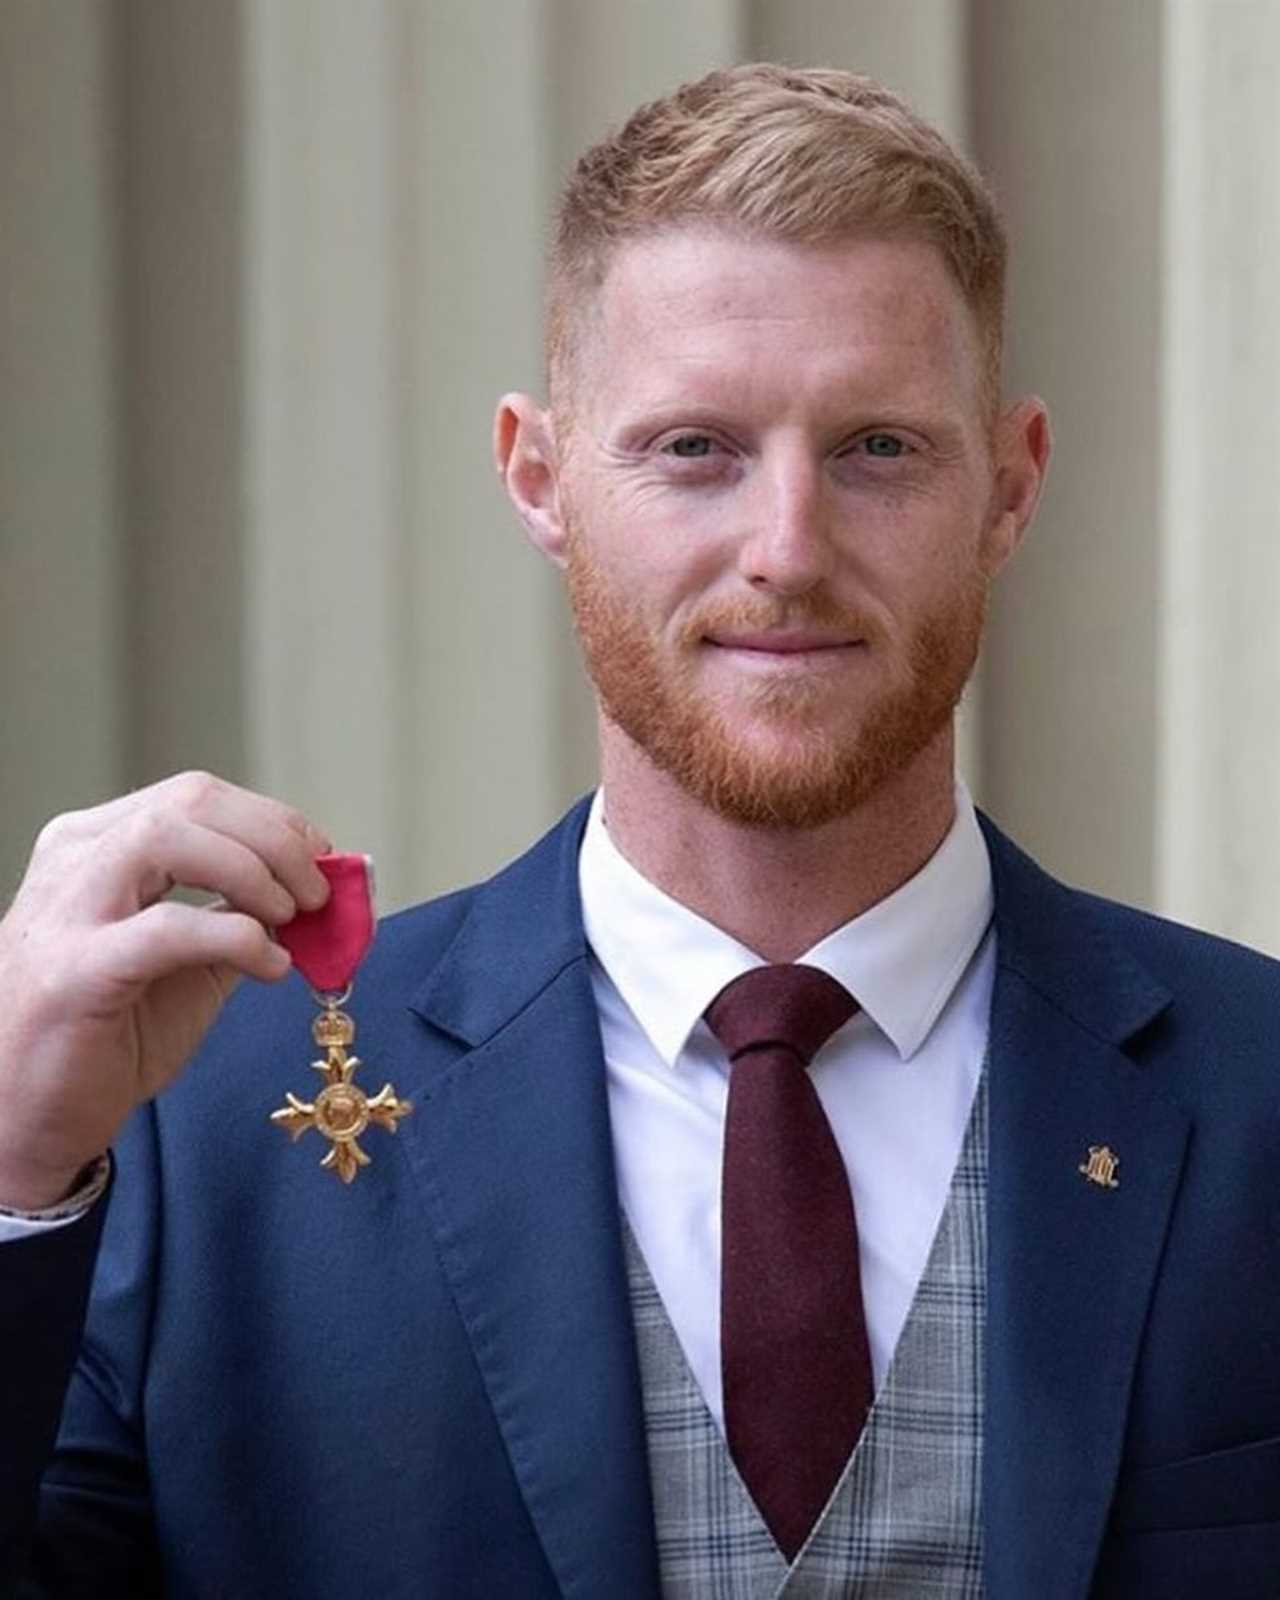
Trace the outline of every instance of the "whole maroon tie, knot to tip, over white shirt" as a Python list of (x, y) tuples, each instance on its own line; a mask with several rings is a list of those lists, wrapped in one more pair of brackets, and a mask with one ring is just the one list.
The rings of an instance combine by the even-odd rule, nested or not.
[(806, 1067), (858, 1010), (814, 966), (758, 966), (707, 1006), (728, 1051), (720, 1269), (725, 1437), (792, 1560), (870, 1406), (858, 1226)]

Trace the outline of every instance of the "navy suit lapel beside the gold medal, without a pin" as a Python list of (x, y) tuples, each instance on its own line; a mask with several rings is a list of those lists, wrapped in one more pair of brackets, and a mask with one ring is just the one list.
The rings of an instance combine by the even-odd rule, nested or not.
[(566, 1597), (656, 1600), (645, 1422), (573, 813), (482, 890), (414, 1000), (469, 1046), (403, 1131)]

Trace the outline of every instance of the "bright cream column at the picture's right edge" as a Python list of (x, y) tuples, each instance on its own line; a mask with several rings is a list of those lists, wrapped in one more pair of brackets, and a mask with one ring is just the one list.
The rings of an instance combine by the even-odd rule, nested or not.
[(1280, 6), (1168, 0), (1155, 902), (1280, 954)]

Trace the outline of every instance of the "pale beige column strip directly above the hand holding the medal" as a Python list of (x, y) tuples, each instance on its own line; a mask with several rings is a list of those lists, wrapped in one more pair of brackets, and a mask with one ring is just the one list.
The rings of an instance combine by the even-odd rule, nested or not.
[(395, 896), (398, 13), (259, 0), (245, 24), (248, 771), (371, 851)]

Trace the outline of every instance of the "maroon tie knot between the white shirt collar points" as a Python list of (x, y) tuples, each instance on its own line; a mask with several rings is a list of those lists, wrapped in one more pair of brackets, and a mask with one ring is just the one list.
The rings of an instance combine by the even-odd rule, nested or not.
[(736, 1061), (749, 1050), (790, 1050), (808, 1066), (858, 1002), (816, 966), (757, 966), (725, 984), (706, 1010), (707, 1027)]

